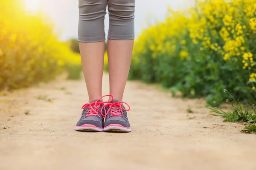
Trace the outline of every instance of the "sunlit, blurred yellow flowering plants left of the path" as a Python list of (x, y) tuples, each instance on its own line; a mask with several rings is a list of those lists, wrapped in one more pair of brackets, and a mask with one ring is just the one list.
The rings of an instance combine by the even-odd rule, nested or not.
[(26, 12), (20, 0), (0, 1), (0, 90), (48, 81), (65, 70), (79, 77), (79, 54), (58, 41), (49, 21)]

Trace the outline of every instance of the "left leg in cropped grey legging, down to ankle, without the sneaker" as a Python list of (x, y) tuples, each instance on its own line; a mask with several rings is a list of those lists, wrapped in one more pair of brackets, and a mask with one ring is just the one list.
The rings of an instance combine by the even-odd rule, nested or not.
[(89, 102), (102, 96), (107, 0), (79, 0), (79, 48)]

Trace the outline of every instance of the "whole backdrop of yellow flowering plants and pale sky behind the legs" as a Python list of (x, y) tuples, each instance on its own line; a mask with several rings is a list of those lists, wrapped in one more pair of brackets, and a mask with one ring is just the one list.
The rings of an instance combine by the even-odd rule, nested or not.
[[(212, 106), (230, 99), (224, 89), (255, 102), (256, 0), (137, 0), (135, 14), (129, 79)], [(78, 17), (77, 0), (1, 0), (0, 90), (79, 79)]]

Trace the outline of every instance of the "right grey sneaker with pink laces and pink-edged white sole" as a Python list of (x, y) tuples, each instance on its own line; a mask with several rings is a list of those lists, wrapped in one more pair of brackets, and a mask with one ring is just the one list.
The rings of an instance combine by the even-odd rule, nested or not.
[[(125, 109), (123, 104), (128, 106), (128, 110)], [(130, 110), (130, 106), (125, 102), (119, 102), (113, 99), (102, 108), (105, 110), (105, 125), (103, 131), (111, 132), (131, 132), (131, 125), (127, 118), (127, 112)]]

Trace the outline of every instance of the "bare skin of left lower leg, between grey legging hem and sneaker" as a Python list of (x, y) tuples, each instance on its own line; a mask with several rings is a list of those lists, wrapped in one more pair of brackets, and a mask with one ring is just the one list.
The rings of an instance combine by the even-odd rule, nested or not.
[(79, 42), (89, 102), (102, 96), (105, 42)]

